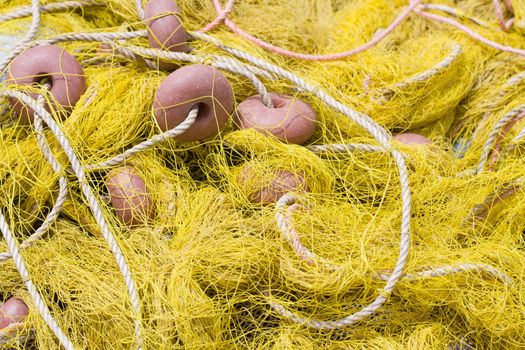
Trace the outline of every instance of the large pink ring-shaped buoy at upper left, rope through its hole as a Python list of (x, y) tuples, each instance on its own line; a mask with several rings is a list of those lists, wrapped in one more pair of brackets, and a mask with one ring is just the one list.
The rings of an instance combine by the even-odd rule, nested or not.
[[(64, 49), (55, 45), (30, 48), (17, 56), (9, 65), (8, 84), (31, 85), (47, 79), (49, 92), (56, 103), (71, 110), (86, 91), (84, 70), (80, 63)], [(32, 94), (36, 97), (35, 94)], [(16, 99), (10, 99), (11, 106), (20, 117), (20, 122), (33, 121), (34, 111)], [(49, 106), (46, 106), (47, 109)]]

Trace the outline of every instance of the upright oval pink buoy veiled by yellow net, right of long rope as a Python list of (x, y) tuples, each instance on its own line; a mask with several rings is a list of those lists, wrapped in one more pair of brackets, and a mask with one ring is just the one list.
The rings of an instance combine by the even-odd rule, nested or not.
[(122, 223), (138, 226), (153, 219), (153, 200), (144, 180), (133, 167), (110, 171), (106, 176), (106, 188)]

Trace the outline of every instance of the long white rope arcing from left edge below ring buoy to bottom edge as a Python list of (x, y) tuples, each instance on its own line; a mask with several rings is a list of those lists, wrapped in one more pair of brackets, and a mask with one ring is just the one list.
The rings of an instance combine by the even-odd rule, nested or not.
[[(115, 257), (115, 260), (117, 261), (117, 265), (120, 269), (120, 272), (122, 273), (124, 277), (124, 281), (128, 290), (128, 295), (131, 299), (131, 306), (134, 313), (134, 319), (135, 319), (135, 338), (137, 342), (137, 349), (142, 349), (142, 325), (141, 325), (141, 310), (140, 310), (140, 302), (139, 297), (136, 289), (136, 283), (131, 275), (131, 271), (129, 269), (129, 266), (126, 262), (126, 259), (122, 253), (122, 250), (120, 249), (115, 236), (111, 233), (111, 230), (109, 229), (108, 224), (106, 223), (106, 220), (104, 218), (103, 211), (100, 207), (100, 204), (97, 201), (97, 198), (95, 197), (93, 190), (90, 188), (86, 174), (84, 173), (84, 169), (75, 154), (75, 151), (69, 144), (69, 141), (67, 140), (67, 137), (65, 134), (60, 130), (57, 123), (54, 121), (53, 117), (43, 108), (40, 106), (33, 98), (30, 96), (21, 93), (16, 90), (5, 90), (2, 93), (3, 96), (8, 96), (15, 98), (25, 104), (26, 106), (30, 107), (34, 110), (35, 114), (38, 114), (44, 122), (47, 124), (51, 132), (55, 135), (58, 142), (60, 143), (62, 149), (64, 150), (66, 156), (68, 157), (71, 168), (75, 175), (78, 178), (78, 181), (80, 183), (82, 192), (86, 199), (88, 200), (89, 207), (91, 211), (93, 212), (93, 215), (95, 217), (95, 220), (100, 227), (100, 231), (106, 242), (108, 243), (108, 246), (113, 253), (113, 256)], [(14, 254), (13, 254), (14, 257)]]

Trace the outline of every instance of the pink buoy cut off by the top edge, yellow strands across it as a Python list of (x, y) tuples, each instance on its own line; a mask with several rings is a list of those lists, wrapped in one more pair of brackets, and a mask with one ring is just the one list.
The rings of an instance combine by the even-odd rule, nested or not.
[(153, 48), (187, 52), (188, 35), (178, 17), (179, 7), (172, 0), (150, 0), (144, 9), (149, 28), (149, 44)]

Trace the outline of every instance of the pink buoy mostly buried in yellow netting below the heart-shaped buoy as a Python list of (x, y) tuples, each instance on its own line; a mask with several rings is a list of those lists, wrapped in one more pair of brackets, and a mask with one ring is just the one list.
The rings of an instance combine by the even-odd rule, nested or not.
[(238, 181), (243, 187), (252, 189), (248, 199), (256, 204), (274, 204), (288, 192), (308, 191), (304, 175), (294, 174), (288, 170), (276, 170), (272, 180), (263, 184), (260, 175), (251, 166), (245, 166), (238, 175)]

